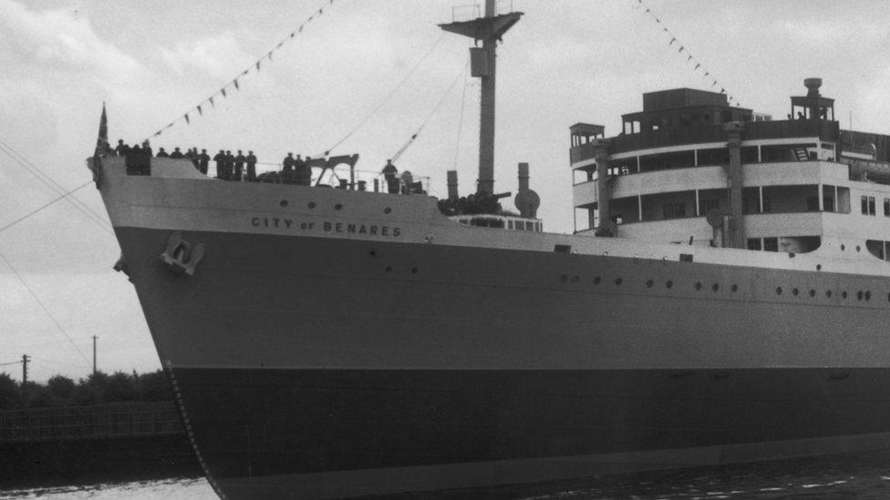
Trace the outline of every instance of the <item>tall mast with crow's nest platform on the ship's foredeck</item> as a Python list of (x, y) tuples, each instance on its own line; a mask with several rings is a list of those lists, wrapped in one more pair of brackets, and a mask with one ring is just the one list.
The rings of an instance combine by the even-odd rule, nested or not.
[[(479, 183), (476, 192), (494, 193), (494, 82), (497, 43), (522, 17), (522, 12), (498, 15), (495, 0), (485, 0), (485, 16), (471, 21), (439, 25), (445, 31), (469, 36), (476, 41), (470, 49), (472, 77), (481, 79), (479, 114)], [(479, 42), (482, 46), (478, 46)]]

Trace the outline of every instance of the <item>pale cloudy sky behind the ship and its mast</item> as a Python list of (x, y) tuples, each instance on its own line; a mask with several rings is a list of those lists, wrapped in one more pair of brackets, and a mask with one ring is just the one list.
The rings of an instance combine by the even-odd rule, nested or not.
[[(20, 380), (21, 366), (3, 363), (28, 354), (31, 380), (85, 377), (94, 335), (99, 370), (160, 367), (132, 286), (111, 270), (119, 247), (88, 184), (84, 160), (103, 102), (112, 142), (163, 129), (151, 138), (156, 149), (250, 148), (273, 163), (339, 143), (334, 153), (358, 153), (366, 171), (420, 129), (398, 168), (429, 177), (436, 196), (446, 192), (445, 171), (457, 169), (461, 193), (474, 191), (479, 85), (463, 73), (471, 42), (437, 26), (468, 18), (471, 4), (0, 0), (0, 228), (80, 187), (68, 196), (79, 207), (63, 199), (0, 229), (0, 371)], [(705, 71), (740, 106), (775, 118), (805, 93), (804, 78), (822, 77), (843, 128), (852, 120), (890, 134), (890, 2), (499, 4), (524, 15), (498, 52), (495, 190), (515, 193), (517, 163), (528, 162), (545, 230), (574, 230), (571, 125), (616, 135), (644, 92), (714, 90)], [(240, 89), (231, 87), (247, 68)], [(227, 97), (208, 107), (227, 84)]]

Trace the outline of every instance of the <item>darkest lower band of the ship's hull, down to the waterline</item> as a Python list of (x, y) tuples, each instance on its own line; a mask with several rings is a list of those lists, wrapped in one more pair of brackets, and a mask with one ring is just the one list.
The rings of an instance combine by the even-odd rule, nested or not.
[(886, 448), (890, 370), (175, 369), (231, 497), (371, 495)]

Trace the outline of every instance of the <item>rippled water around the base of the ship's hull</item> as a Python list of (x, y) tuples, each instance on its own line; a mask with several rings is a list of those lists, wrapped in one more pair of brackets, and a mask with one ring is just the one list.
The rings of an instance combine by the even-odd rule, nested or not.
[[(429, 498), (430, 495), (401, 495)], [(841, 499), (890, 498), (890, 453), (740, 464), (686, 471), (603, 476), (583, 481), (460, 491), (432, 498), (550, 499)], [(0, 491), (0, 498), (171, 500), (216, 498), (203, 479)]]

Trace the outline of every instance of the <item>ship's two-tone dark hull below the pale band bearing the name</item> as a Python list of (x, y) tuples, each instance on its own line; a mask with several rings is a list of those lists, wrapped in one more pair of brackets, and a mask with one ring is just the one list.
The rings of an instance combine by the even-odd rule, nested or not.
[(158, 258), (170, 230), (116, 231), (197, 454), (229, 497), (890, 444), (883, 279), (183, 230), (207, 249), (187, 276)]

